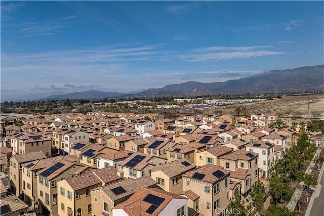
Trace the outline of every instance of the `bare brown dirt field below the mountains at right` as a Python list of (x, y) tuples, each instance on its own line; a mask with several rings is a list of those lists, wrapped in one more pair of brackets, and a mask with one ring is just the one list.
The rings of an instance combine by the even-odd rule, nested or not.
[[(308, 118), (308, 98), (310, 117), (324, 118), (324, 95), (287, 96), (282, 99), (240, 104), (238, 106), (244, 110), (241, 115), (260, 112), (264, 114), (277, 113), (280, 117), (299, 116)], [(236, 105), (217, 107), (209, 109), (208, 112), (236, 114)]]

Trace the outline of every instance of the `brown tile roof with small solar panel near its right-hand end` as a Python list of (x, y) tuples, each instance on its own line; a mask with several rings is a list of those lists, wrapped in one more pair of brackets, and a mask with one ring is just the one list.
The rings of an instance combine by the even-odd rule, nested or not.
[[(189, 163), (189, 165), (185, 166), (182, 164), (182, 162), (187, 162)], [(196, 168), (196, 165), (194, 163), (191, 163), (187, 159), (183, 158), (180, 160), (175, 160), (166, 164), (162, 164), (160, 166), (150, 168), (149, 170), (152, 172), (161, 171), (165, 175), (171, 178), (179, 174), (184, 174), (185, 172), (194, 168)]]

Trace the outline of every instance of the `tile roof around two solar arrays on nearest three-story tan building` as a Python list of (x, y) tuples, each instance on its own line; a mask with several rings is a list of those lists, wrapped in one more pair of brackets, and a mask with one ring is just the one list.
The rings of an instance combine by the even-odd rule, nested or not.
[(219, 180), (219, 178), (217, 178), (216, 176), (213, 175), (213, 173), (218, 170), (223, 172), (225, 175), (228, 174), (228, 176), (229, 176), (229, 174), (230, 174), (230, 171), (224, 169), (224, 167), (222, 167), (222, 166), (216, 166), (214, 164), (206, 164), (206, 165), (200, 166), (192, 171), (189, 171), (185, 174), (182, 174), (182, 176), (187, 177), (187, 178), (192, 178), (192, 176), (195, 175), (196, 173), (203, 174), (204, 177), (200, 181), (214, 183)]

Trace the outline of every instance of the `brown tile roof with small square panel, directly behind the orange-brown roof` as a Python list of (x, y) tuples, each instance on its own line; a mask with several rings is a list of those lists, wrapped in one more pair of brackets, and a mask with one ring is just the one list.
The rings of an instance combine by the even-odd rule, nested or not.
[[(141, 187), (156, 187), (157, 183), (150, 176), (144, 176), (137, 179), (126, 178), (121, 179), (120, 181), (110, 183), (103, 187), (94, 189), (94, 190), (102, 190), (110, 199), (113, 201), (117, 201), (118, 199), (130, 196), (134, 194)], [(122, 194), (116, 195), (112, 192), (111, 189), (122, 187), (126, 192)], [(94, 191), (92, 190), (92, 191)]]

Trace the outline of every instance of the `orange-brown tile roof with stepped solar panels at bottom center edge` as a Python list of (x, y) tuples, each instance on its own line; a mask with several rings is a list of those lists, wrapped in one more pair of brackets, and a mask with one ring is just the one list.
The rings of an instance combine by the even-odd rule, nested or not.
[(138, 216), (140, 215), (149, 215), (146, 213), (148, 208), (151, 207), (152, 204), (143, 201), (143, 199), (148, 195), (152, 194), (154, 196), (158, 196), (163, 198), (163, 202), (156, 208), (153, 212), (153, 215), (159, 215), (159, 213), (168, 205), (168, 203), (172, 199), (188, 199), (186, 197), (182, 197), (180, 195), (172, 194), (164, 190), (156, 189), (156, 188), (141, 188), (136, 191), (128, 200), (119, 205), (115, 206), (112, 209), (123, 209), (129, 216)]

